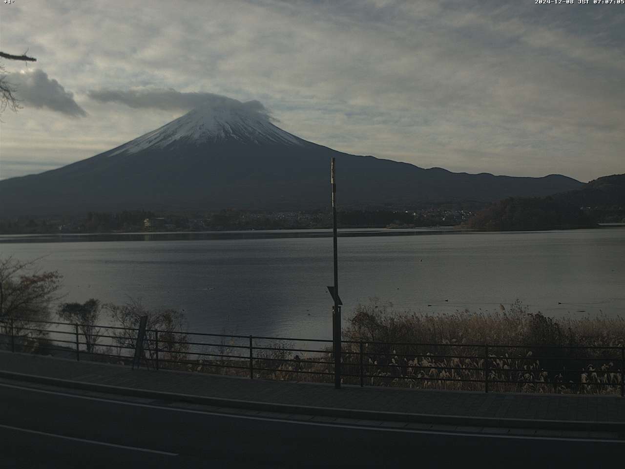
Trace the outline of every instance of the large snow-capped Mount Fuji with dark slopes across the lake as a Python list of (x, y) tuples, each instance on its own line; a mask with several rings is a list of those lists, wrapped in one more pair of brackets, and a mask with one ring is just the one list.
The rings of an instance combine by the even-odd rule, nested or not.
[(0, 216), (136, 208), (325, 208), (330, 203), (332, 156), (337, 162), (337, 201), (344, 208), (487, 203), (584, 185), (559, 174), (516, 178), (451, 173), (341, 153), (277, 127), (257, 101), (230, 99), (199, 106), (91, 158), (0, 181)]

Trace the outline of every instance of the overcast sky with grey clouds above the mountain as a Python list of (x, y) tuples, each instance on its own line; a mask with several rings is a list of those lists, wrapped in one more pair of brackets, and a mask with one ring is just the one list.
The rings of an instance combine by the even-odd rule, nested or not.
[(106, 151), (207, 93), (424, 168), (625, 172), (624, 4), (15, 0), (0, 26), (2, 51), (37, 58), (2, 61), (23, 108), (0, 116), (0, 178)]

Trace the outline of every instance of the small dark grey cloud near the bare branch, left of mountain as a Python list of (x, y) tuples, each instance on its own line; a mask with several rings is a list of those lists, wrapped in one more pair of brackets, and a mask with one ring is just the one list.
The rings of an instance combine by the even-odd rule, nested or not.
[(11, 73), (7, 81), (15, 86), (17, 99), (29, 108), (47, 108), (71, 117), (87, 116), (74, 101), (74, 94), (41, 69)]

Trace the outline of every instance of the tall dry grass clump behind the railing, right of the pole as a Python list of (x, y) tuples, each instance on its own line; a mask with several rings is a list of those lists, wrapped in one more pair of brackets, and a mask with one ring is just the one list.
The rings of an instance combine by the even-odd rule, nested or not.
[(343, 336), (346, 382), (362, 370), (369, 385), (484, 390), (488, 380), (493, 391), (620, 392), (621, 351), (606, 348), (625, 344), (620, 316), (550, 318), (518, 300), (434, 315), (371, 298)]

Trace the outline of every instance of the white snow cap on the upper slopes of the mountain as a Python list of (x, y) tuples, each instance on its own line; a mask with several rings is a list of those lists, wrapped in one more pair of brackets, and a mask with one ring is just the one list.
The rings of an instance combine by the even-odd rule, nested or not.
[(305, 146), (309, 144), (306, 140), (272, 124), (267, 114), (244, 106), (247, 103), (239, 104), (242, 105), (204, 104), (161, 128), (123, 144), (109, 153), (109, 156), (137, 153), (147, 148), (165, 148), (176, 142), (195, 145), (226, 141), (257, 145)]

